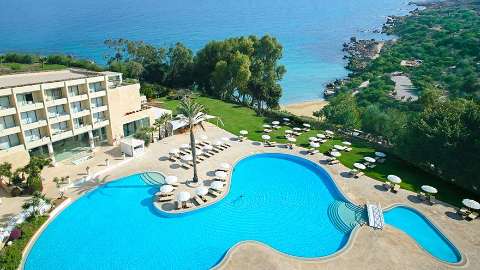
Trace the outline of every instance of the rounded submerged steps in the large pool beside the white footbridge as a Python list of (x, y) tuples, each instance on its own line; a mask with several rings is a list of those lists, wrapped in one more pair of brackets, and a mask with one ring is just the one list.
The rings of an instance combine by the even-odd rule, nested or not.
[(351, 232), (367, 220), (364, 208), (344, 201), (334, 201), (327, 213), (335, 227), (343, 233)]

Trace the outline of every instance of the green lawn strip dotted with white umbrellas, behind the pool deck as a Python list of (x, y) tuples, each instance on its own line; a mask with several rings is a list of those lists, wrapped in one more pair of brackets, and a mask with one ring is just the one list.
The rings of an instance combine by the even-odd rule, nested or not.
[[(179, 103), (178, 100), (167, 100), (165, 98), (159, 99), (162, 102), (162, 106), (166, 109), (175, 112), (175, 109)], [(248, 130), (248, 138), (255, 141), (262, 141), (262, 125), (270, 124), (273, 120), (279, 119), (267, 119), (265, 117), (257, 116), (252, 109), (242, 107), (240, 105), (223, 102), (217, 99), (198, 97), (196, 98), (198, 103), (205, 106), (207, 112), (211, 115), (218, 116), (223, 126), (218, 120), (213, 119), (211, 122), (221, 126), (223, 129), (233, 133), (239, 134), (242, 129)], [(291, 129), (291, 127), (282, 127), (279, 130), (271, 132), (269, 135), (272, 141), (285, 143), (285, 130)], [(320, 130), (311, 130), (303, 133), (297, 137), (297, 145), (307, 147), (308, 137), (315, 136), (317, 133), (321, 133)], [(328, 140), (327, 143), (321, 145), (319, 148), (322, 153), (327, 152), (335, 144), (341, 144), (344, 139), (334, 138)], [(350, 140), (353, 144), (353, 150), (348, 153), (343, 153), (339, 158), (340, 162), (349, 168), (353, 168), (353, 163), (363, 160), (365, 156), (372, 156), (375, 152), (375, 148), (361, 140)], [(387, 153), (388, 154), (388, 153)], [(395, 174), (402, 178), (403, 182), (401, 187), (407, 190), (418, 192), (422, 185), (431, 185), (439, 190), (437, 198), (452, 205), (460, 206), (461, 200), (465, 197), (478, 199), (471, 192), (465, 191), (451, 183), (445, 182), (436, 176), (430, 175), (405, 161), (397, 158), (392, 154), (388, 154), (387, 161), (383, 164), (377, 164), (374, 169), (366, 170), (366, 175), (377, 179), (379, 181), (386, 181), (386, 177), (389, 174)], [(387, 195), (386, 195), (387, 196)], [(393, 196), (389, 194), (388, 196)]]

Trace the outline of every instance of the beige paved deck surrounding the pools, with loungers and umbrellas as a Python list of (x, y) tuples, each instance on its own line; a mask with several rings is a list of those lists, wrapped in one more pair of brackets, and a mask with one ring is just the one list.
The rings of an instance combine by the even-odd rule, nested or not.
[[(205, 131), (197, 131), (198, 135), (206, 134), (210, 141), (221, 137), (233, 137), (232, 134), (206, 124)], [(175, 135), (150, 145), (145, 154), (134, 159), (122, 160), (116, 148), (105, 148), (98, 151), (92, 160), (77, 166), (48, 168), (43, 177), (49, 179), (44, 185), (44, 192), (50, 197), (56, 197), (58, 190), (51, 182), (53, 176), (69, 174), (72, 180), (85, 176), (85, 167), (90, 166), (92, 174), (98, 174), (95, 181), (87, 182), (81, 187), (70, 188), (67, 196), (73, 200), (82, 196), (98, 184), (108, 182), (123, 176), (144, 171), (159, 171), (165, 175), (176, 175), (180, 182), (191, 179), (193, 169), (183, 169), (167, 159), (171, 148), (188, 143), (186, 134)], [(232, 147), (198, 165), (198, 175), (205, 185), (214, 178), (214, 171), (222, 162), (235, 164), (238, 160), (257, 153), (288, 153), (309, 159), (325, 168), (332, 176), (341, 191), (355, 204), (380, 203), (386, 208), (395, 203), (402, 203), (420, 210), (432, 220), (440, 230), (458, 247), (467, 264), (461, 268), (480, 269), (480, 221), (467, 222), (458, 220), (456, 209), (446, 204), (428, 206), (416, 200), (413, 192), (400, 190), (398, 194), (386, 192), (381, 182), (362, 176), (359, 179), (344, 177), (348, 168), (341, 164), (323, 165), (326, 157), (305, 155), (303, 148), (294, 147), (289, 150), (283, 147), (264, 147), (258, 142), (231, 142)], [(111, 160), (110, 166), (105, 166), (105, 158)], [(319, 163), (320, 162), (320, 163)], [(388, 159), (387, 159), (388, 162)], [(128, 165), (127, 165), (128, 164)], [(66, 175), (65, 175), (66, 176)], [(229, 178), (227, 179), (227, 184)], [(182, 186), (182, 185), (181, 185)], [(228, 188), (228, 187), (227, 187)], [(228, 190), (228, 189), (226, 189)], [(226, 194), (226, 192), (224, 193)], [(22, 199), (18, 199), (22, 201)], [(152, 198), (153, 200), (153, 198)], [(4, 199), (5, 201), (5, 199)], [(16, 208), (13, 201), (9, 207), (1, 208), (0, 215), (11, 214)], [(298, 243), (301, 244), (301, 243)], [(350, 246), (327, 259), (302, 260), (281, 254), (274, 249), (257, 242), (243, 242), (232, 247), (216, 269), (450, 269), (458, 268), (439, 262), (422, 250), (408, 235), (386, 226), (383, 231), (361, 227)]]

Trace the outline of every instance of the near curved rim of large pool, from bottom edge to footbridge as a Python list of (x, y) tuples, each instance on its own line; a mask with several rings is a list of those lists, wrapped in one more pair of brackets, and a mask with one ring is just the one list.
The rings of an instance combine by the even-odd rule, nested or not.
[(263, 242), (260, 242), (260, 241), (255, 241), (255, 240), (240, 241), (240, 242), (236, 243), (235, 245), (233, 245), (232, 247), (230, 247), (227, 250), (227, 252), (225, 253), (225, 255), (223, 256), (222, 260), (220, 260), (220, 262), (217, 263), (215, 266), (213, 266), (211, 269), (212, 270), (218, 270), (218, 269), (222, 268), (223, 266), (226, 266), (229, 263), (230, 259), (232, 258), (232, 253), (237, 248), (239, 248), (240, 246), (245, 245), (245, 244), (253, 244), (253, 245), (257, 245), (257, 246), (266, 247), (269, 250), (273, 251), (276, 255), (284, 256), (284, 257), (287, 257), (289, 259), (294, 259), (294, 260), (298, 260), (298, 261), (302, 261), (302, 262), (315, 263), (315, 262), (320, 262), (320, 261), (322, 261), (322, 262), (330, 261), (330, 260), (336, 259), (339, 256), (347, 253), (347, 251), (349, 251), (353, 247), (353, 243), (354, 243), (355, 239), (357, 238), (358, 233), (361, 231), (362, 228), (363, 227), (361, 227), (359, 225), (356, 226), (350, 232), (350, 235), (348, 236), (348, 239), (347, 239), (347, 242), (345, 243), (345, 245), (343, 245), (343, 247), (340, 248), (339, 250), (337, 250), (334, 253), (332, 253), (330, 255), (327, 255), (327, 256), (312, 257), (312, 258), (290, 255), (288, 253), (281, 252), (280, 250), (278, 250), (276, 248), (273, 248), (270, 245), (267, 245), (267, 244), (265, 244)]

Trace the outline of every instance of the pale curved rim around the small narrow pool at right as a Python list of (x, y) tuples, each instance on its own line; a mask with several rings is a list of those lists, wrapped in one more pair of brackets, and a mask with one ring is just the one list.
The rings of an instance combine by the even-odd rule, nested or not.
[(397, 230), (405, 235), (407, 235), (410, 239), (413, 240), (413, 242), (415, 243), (415, 245), (417, 245), (421, 250), (423, 250), (428, 256), (430, 256), (431, 258), (433, 258), (434, 260), (436, 260), (437, 262), (440, 262), (440, 263), (443, 263), (443, 264), (446, 264), (446, 265), (449, 265), (449, 266), (452, 266), (452, 267), (458, 267), (458, 268), (461, 268), (461, 267), (465, 267), (468, 265), (468, 260), (467, 260), (467, 256), (460, 251), (460, 249), (457, 247), (457, 245), (445, 234), (442, 232), (442, 230), (440, 229), (440, 227), (438, 226), (438, 224), (436, 224), (434, 221), (432, 221), (430, 218), (428, 218), (426, 215), (424, 215), (420, 210), (410, 206), (410, 205), (406, 205), (406, 204), (403, 204), (403, 203), (394, 203), (394, 204), (390, 204), (388, 205), (387, 207), (384, 207), (383, 208), (383, 211), (388, 211), (388, 210), (391, 210), (395, 207), (404, 207), (404, 208), (408, 208), (414, 212), (416, 212), (417, 214), (421, 215), (424, 219), (426, 219), (432, 226), (433, 228), (438, 232), (440, 233), (444, 238), (445, 240), (447, 240), (447, 242), (449, 244), (451, 244), (453, 246), (453, 248), (455, 249), (455, 251), (458, 252), (458, 254), (460, 255), (460, 261), (458, 262), (455, 262), (455, 263), (452, 263), (452, 262), (447, 262), (447, 261), (444, 261), (444, 260), (441, 260), (435, 256), (433, 256), (430, 252), (428, 252), (424, 247), (422, 247), (418, 242), (417, 240), (415, 240), (415, 238), (413, 238), (412, 236), (410, 236), (408, 233), (404, 232), (403, 230), (393, 226), (393, 225), (390, 225), (390, 224), (385, 224), (385, 225), (388, 225), (389, 228), (392, 228), (394, 230)]

